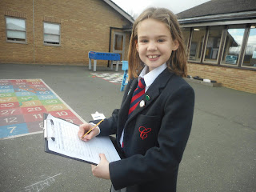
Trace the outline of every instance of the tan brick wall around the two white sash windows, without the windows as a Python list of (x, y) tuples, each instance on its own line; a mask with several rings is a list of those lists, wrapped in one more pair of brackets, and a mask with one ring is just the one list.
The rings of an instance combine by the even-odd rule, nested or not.
[[(1, 0), (0, 15), (0, 63), (88, 65), (89, 50), (109, 51), (110, 26), (130, 24), (102, 0)], [(26, 43), (6, 42), (6, 15), (26, 18)], [(60, 46), (43, 44), (43, 22), (61, 24)]]

